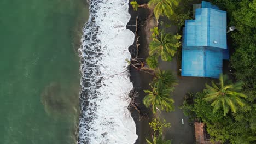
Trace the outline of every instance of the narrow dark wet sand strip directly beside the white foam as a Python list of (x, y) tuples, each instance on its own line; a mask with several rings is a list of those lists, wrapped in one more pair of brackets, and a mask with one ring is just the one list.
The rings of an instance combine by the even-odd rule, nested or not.
[[(135, 37), (133, 45), (129, 47), (129, 51), (132, 57), (138, 57), (146, 59), (148, 56), (147, 49), (147, 40), (145, 35), (145, 26), (141, 25), (144, 23), (149, 15), (149, 11), (147, 9), (140, 8), (138, 11), (134, 11), (131, 5), (129, 4), (129, 14), (131, 18), (127, 23), (126, 28), (135, 33), (138, 39), (138, 43), (140, 44), (138, 47), (138, 51), (136, 49), (136, 40)], [(138, 16), (138, 23), (140, 25), (137, 26), (137, 34), (136, 34), (136, 17)], [(145, 96), (144, 89), (149, 89), (149, 82), (153, 79), (152, 75), (147, 73), (143, 73), (142, 71), (138, 71), (133, 67), (130, 67), (130, 80), (133, 83), (133, 91), (138, 92), (138, 97), (135, 97), (135, 103), (138, 105), (138, 109), (140, 113), (137, 112), (134, 108), (130, 110), (133, 121), (136, 124), (136, 134), (138, 135), (138, 139), (135, 144), (146, 143), (146, 138), (150, 137), (151, 129), (148, 125), (150, 117), (152, 117), (152, 112), (150, 109), (146, 108), (146, 106), (142, 103), (142, 100)]]

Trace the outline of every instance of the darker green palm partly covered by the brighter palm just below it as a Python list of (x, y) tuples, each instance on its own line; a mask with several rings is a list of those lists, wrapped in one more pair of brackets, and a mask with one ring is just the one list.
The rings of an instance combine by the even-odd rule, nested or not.
[(178, 85), (175, 76), (170, 70), (155, 70), (155, 77), (150, 85), (159, 85), (160, 87), (168, 87), (174, 90), (174, 86)]

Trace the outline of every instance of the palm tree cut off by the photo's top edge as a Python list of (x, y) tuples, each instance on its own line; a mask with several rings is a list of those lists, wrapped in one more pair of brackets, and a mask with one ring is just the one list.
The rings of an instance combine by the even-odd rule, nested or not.
[(173, 14), (173, 5), (177, 6), (178, 4), (178, 0), (150, 0), (148, 3), (150, 8), (154, 8), (156, 19), (159, 19), (159, 16), (170, 18)]

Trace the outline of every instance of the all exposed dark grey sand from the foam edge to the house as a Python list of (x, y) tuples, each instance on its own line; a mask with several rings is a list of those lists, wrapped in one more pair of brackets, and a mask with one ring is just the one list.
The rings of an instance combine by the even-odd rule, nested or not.
[[(147, 0), (139, 1), (139, 4), (147, 2)], [(149, 11), (147, 9), (139, 8), (138, 11), (133, 11), (130, 6), (129, 13), (131, 14), (131, 20), (127, 24), (127, 28), (135, 32), (136, 16), (138, 16), (138, 31), (137, 35), (139, 36), (139, 49), (138, 57), (146, 59), (148, 56), (148, 44), (145, 30), (145, 21), (148, 17)], [(161, 20), (160, 20), (161, 21)], [(166, 20), (164, 20), (166, 21)], [(167, 20), (168, 21), (168, 20)], [(176, 26), (171, 26), (165, 29), (166, 33), (176, 34), (178, 28)], [(181, 48), (180, 48), (181, 49)], [(136, 45), (133, 44), (129, 47), (132, 57), (136, 56)], [(189, 126), (189, 119), (185, 117), (182, 110), (178, 107), (182, 105), (184, 101), (185, 94), (187, 92), (200, 92), (205, 88), (205, 83), (210, 82), (210, 79), (205, 77), (181, 77), (178, 76), (178, 67), (177, 67), (177, 57), (174, 57), (171, 62), (159, 61), (159, 68), (163, 70), (172, 70), (174, 75), (177, 75), (178, 85), (175, 87), (174, 92), (172, 93), (172, 98), (175, 103), (175, 111), (170, 113), (162, 112), (160, 117), (165, 118), (167, 122), (171, 123), (171, 128), (164, 129), (164, 137), (166, 140), (172, 139), (172, 144), (192, 144), (195, 143), (194, 140), (194, 127)], [(224, 62), (223, 70), (224, 73), (229, 73), (228, 62)], [(153, 76), (142, 71), (138, 71), (134, 68), (130, 68), (130, 79), (133, 83), (134, 90), (138, 92), (138, 97), (135, 98), (135, 102), (138, 104), (138, 108), (141, 111), (139, 114), (135, 109), (131, 110), (131, 115), (136, 123), (136, 134), (138, 143), (146, 143), (146, 138), (151, 139), (150, 135), (152, 130), (149, 128), (148, 118), (152, 118), (152, 112), (150, 109), (147, 109), (142, 100), (145, 96), (144, 89), (150, 89), (149, 83), (152, 81)], [(182, 124), (182, 119), (184, 124)]]

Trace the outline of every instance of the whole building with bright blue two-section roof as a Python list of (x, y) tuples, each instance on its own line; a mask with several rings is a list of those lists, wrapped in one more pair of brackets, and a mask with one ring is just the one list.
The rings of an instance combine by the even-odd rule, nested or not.
[(223, 59), (229, 59), (226, 11), (205, 1), (193, 8), (195, 19), (183, 28), (181, 75), (218, 78)]

